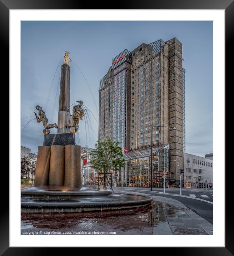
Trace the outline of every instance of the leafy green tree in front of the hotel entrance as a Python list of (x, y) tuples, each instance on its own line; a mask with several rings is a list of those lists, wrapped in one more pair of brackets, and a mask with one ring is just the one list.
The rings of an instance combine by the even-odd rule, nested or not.
[(119, 146), (119, 142), (115, 142), (109, 137), (105, 141), (98, 141), (95, 144), (95, 149), (90, 154), (93, 156), (93, 159), (89, 162), (91, 167), (98, 169), (99, 172), (103, 172), (104, 175), (110, 169), (117, 171), (118, 168), (125, 167), (123, 149)]

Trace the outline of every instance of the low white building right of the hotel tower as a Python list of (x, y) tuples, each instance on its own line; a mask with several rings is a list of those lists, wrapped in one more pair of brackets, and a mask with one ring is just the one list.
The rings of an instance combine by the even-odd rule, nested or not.
[(213, 188), (213, 167), (213, 159), (184, 153), (184, 187)]

